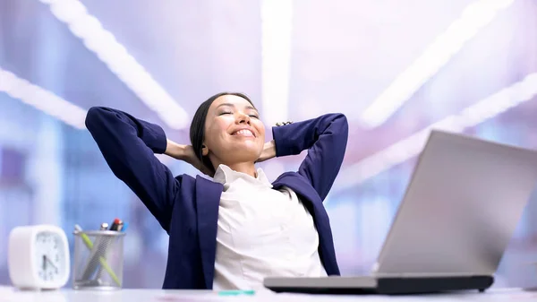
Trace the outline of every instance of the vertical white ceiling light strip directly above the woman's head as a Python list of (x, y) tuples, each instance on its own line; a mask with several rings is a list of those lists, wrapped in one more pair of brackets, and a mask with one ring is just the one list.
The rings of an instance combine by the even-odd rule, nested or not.
[(268, 124), (288, 118), (293, 1), (261, 0), (261, 93)]

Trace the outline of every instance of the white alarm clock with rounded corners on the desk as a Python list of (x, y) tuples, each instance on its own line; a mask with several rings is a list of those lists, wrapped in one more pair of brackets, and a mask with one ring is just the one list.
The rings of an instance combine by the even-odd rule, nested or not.
[(69, 244), (52, 225), (17, 227), (9, 234), (9, 277), (20, 289), (59, 289), (69, 279)]

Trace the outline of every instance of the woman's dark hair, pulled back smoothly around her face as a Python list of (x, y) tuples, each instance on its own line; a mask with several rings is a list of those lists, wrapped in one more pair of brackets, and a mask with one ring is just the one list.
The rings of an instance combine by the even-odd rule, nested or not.
[[(215, 172), (215, 168), (213, 167), (212, 163), (209, 160), (209, 156), (203, 156), (203, 153), (201, 151), (203, 140), (205, 140), (205, 120), (207, 119), (207, 113), (209, 112), (210, 105), (215, 101), (215, 99), (218, 99), (221, 96), (225, 95), (234, 95), (237, 97), (241, 97), (243, 99), (246, 99), (250, 102), (251, 106), (253, 106), (253, 103), (251, 102), (251, 99), (248, 98), (245, 94), (240, 92), (220, 92), (203, 103), (201, 103), (198, 110), (196, 110), (196, 113), (194, 114), (194, 117), (192, 118), (191, 128), (190, 128), (190, 137), (191, 137), (191, 143), (192, 148), (194, 149), (194, 153), (198, 157), (198, 159), (201, 160), (203, 165), (206, 168), (209, 168), (210, 171), (213, 173)], [(255, 106), (253, 106), (255, 107)]]

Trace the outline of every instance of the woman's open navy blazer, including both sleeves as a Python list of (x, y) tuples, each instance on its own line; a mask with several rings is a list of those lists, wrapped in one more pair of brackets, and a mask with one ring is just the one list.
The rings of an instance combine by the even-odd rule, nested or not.
[[(140, 197), (170, 239), (163, 289), (212, 289), (218, 204), (223, 186), (204, 177), (174, 177), (154, 153), (166, 151), (166, 134), (112, 108), (90, 108), (86, 126), (115, 176)], [(272, 128), (277, 157), (308, 151), (297, 172), (272, 183), (294, 190), (310, 211), (319, 233), (320, 260), (328, 275), (339, 275), (328, 214), (328, 194), (348, 137), (344, 115), (318, 118)]]

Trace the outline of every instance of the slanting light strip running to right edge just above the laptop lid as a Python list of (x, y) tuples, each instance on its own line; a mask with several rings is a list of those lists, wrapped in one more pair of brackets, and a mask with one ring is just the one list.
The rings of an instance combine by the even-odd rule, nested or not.
[(535, 95), (537, 95), (537, 73), (531, 73), (523, 81), (516, 82), (490, 97), (480, 100), (459, 114), (447, 116), (416, 134), (394, 143), (383, 151), (345, 168), (340, 173), (336, 189), (342, 190), (358, 185), (389, 168), (412, 159), (422, 151), (431, 129), (461, 132), (465, 128), (479, 125), (509, 108), (514, 108), (524, 101), (533, 99)]

